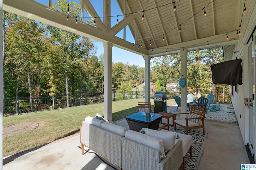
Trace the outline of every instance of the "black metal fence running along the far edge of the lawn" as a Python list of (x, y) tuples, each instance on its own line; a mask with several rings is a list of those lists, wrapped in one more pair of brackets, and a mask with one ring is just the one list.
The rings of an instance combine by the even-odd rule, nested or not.
[[(200, 98), (212, 93), (214, 94), (214, 102), (231, 103), (231, 92), (187, 92), (193, 94), (194, 98)], [(150, 96), (154, 96), (154, 92), (150, 92)], [(174, 100), (175, 96), (180, 96), (180, 92), (167, 92), (170, 100)], [(68, 98), (68, 100), (67, 100)], [(129, 91), (129, 92), (112, 92), (112, 101), (129, 100), (144, 98), (144, 91)], [(68, 104), (67, 104), (68, 102)], [(90, 95), (59, 95), (59, 96), (33, 96), (5, 98), (4, 100), (4, 116), (18, 115), (36, 111), (45, 111), (50, 109), (60, 109), (66, 107), (76, 107), (91, 104), (100, 104), (104, 102), (104, 94)]]

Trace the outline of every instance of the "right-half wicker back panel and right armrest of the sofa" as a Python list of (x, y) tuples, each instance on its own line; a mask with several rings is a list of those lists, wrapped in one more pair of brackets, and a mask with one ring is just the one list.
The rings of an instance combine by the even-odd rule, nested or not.
[(182, 161), (181, 140), (161, 160), (157, 149), (122, 137), (123, 170), (178, 170)]

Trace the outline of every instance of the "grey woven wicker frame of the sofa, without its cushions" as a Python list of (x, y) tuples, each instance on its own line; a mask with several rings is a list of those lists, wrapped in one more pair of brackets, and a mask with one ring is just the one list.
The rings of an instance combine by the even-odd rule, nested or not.
[(161, 160), (158, 150), (83, 121), (80, 143), (82, 154), (85, 146), (119, 170), (178, 170), (182, 167), (181, 140)]

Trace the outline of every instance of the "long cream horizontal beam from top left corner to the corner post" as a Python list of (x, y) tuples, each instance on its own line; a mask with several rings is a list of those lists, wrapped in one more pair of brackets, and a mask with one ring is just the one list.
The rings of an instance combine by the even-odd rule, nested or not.
[(132, 43), (113, 36), (106, 32), (106, 30), (98, 29), (81, 21), (78, 21), (78, 24), (76, 24), (76, 19), (72, 17), (67, 21), (65, 14), (35, 1), (20, 0), (19, 2), (20, 3), (17, 3), (16, 0), (4, 0), (3, 10), (76, 33), (96, 41), (109, 41), (113, 43), (115, 47), (119, 47), (138, 55), (147, 55), (146, 49), (140, 48), (140, 50), (138, 50), (138, 48), (133, 48)]

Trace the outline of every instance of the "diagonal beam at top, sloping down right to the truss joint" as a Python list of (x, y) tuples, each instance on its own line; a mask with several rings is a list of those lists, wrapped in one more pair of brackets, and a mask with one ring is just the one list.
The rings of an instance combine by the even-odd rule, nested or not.
[(82, 4), (83, 4), (84, 9), (86, 10), (86, 12), (88, 13), (88, 15), (90, 16), (90, 18), (93, 21), (95, 20), (95, 17), (98, 18), (98, 20), (96, 20), (96, 26), (99, 29), (102, 29), (102, 30), (105, 29), (106, 30), (106, 27), (105, 27), (104, 23), (100, 20), (97, 12), (94, 10), (90, 1), (89, 0), (82, 0)]

